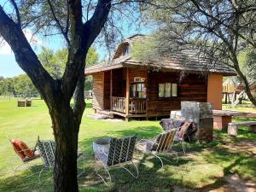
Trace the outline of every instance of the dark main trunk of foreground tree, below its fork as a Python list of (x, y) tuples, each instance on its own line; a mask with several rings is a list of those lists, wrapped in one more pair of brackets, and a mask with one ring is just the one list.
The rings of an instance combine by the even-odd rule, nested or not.
[(63, 102), (50, 115), (55, 135), (55, 192), (77, 192), (78, 120)]

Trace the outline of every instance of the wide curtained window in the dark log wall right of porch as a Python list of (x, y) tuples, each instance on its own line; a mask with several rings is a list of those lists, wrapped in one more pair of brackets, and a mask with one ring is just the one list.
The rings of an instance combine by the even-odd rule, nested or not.
[(160, 98), (177, 96), (177, 84), (172, 84), (172, 83), (159, 84), (158, 96)]

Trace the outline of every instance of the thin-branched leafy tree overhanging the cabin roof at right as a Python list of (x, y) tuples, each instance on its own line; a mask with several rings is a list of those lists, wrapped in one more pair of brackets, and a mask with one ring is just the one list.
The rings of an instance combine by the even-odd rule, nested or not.
[[(153, 0), (145, 18), (160, 26), (154, 54), (165, 56), (189, 45), (199, 49), (212, 63), (224, 62), (236, 70), (249, 100), (256, 106), (251, 84), (241, 70), (239, 55), (256, 49), (256, 6), (252, 0), (197, 1)], [(153, 9), (152, 9), (153, 8)], [(255, 66), (255, 63), (253, 64)]]

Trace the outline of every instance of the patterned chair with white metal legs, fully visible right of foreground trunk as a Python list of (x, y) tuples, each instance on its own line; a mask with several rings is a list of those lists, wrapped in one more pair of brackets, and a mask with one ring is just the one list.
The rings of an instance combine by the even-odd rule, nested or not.
[[(112, 181), (111, 175), (109, 173), (110, 168), (123, 168), (125, 171), (129, 172), (132, 177), (138, 177), (137, 166), (133, 163), (133, 151), (135, 148), (136, 136), (116, 138), (113, 137), (109, 142), (108, 152), (97, 152), (95, 154), (96, 158), (96, 174), (102, 178), (103, 182), (107, 184), (106, 180), (98, 172), (98, 167), (103, 167), (108, 172), (109, 181)], [(135, 167), (137, 174), (133, 174), (125, 165), (131, 164)]]

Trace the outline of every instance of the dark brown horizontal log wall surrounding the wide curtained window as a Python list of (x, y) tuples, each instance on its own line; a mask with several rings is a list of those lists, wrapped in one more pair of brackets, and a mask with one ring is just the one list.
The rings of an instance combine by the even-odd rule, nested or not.
[(177, 73), (148, 73), (148, 116), (169, 115), (172, 110), (180, 109), (181, 101), (207, 102), (207, 80), (197, 74), (185, 76), (177, 85), (177, 97), (158, 97), (158, 84), (177, 83), (178, 79)]

